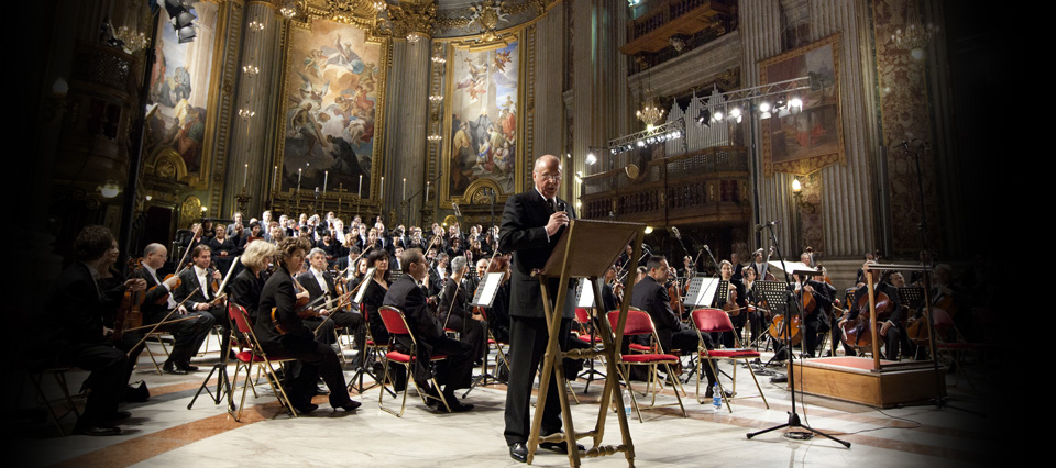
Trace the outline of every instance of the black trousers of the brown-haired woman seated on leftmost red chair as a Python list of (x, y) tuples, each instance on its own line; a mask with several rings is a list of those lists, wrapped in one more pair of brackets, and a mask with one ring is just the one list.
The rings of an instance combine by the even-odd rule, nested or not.
[(345, 388), (344, 372), (338, 355), (322, 343), (293, 333), (283, 335), (278, 343), (263, 342), (264, 352), (275, 356), (292, 357), (300, 361), (300, 371), (285, 372), (286, 394), (294, 408), (305, 408), (311, 403), (316, 393), (316, 382), (319, 376), (330, 389), (330, 405), (343, 406), (351, 399)]

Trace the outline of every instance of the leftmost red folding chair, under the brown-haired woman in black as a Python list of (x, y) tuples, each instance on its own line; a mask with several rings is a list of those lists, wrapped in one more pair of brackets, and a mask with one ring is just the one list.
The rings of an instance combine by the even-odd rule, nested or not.
[[(268, 357), (263, 349), (261, 349), (261, 342), (256, 339), (256, 334), (253, 333), (253, 325), (250, 324), (250, 317), (245, 314), (245, 309), (234, 302), (228, 302), (228, 315), (231, 316), (231, 322), (234, 323), (238, 333), (241, 334), (241, 346), (244, 347), (239, 353), (235, 353), (235, 365), (234, 365), (234, 375), (231, 376), (231, 393), (234, 394), (234, 386), (239, 381), (239, 371), (245, 369), (245, 382), (242, 385), (242, 401), (239, 403), (238, 412), (233, 410), (233, 404), (228, 406), (228, 413), (234, 416), (234, 421), (240, 421), (242, 419), (242, 409), (245, 406), (245, 390), (246, 388), (253, 388), (254, 385), (250, 383), (251, 376), (253, 375), (253, 365), (260, 363), (257, 366), (257, 371), (264, 372), (264, 376), (267, 378), (267, 383), (272, 386), (272, 392), (278, 398), (278, 402), (282, 403), (286, 411), (293, 417), (297, 417), (297, 412), (294, 411), (293, 403), (289, 402), (289, 397), (286, 395), (286, 390), (283, 388), (283, 383), (278, 381), (278, 377), (275, 376), (275, 369), (272, 367), (272, 364), (283, 364), (293, 361), (293, 358), (282, 357), (282, 356), (272, 356)], [(253, 388), (253, 395), (256, 397), (256, 389)]]

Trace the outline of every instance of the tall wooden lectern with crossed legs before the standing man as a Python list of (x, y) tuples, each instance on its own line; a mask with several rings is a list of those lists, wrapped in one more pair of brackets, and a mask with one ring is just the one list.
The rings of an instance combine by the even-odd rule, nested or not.
[[(627, 414), (624, 411), (623, 395), (619, 393), (623, 388), (618, 379), (606, 378), (605, 388), (602, 390), (597, 422), (593, 431), (575, 432), (572, 425), (572, 415), (569, 409), (569, 395), (564, 391), (568, 383), (564, 378), (564, 365), (562, 359), (565, 357), (572, 359), (605, 356), (605, 365), (608, 368), (609, 376), (618, 376), (616, 369), (616, 354), (620, 349), (620, 341), (624, 335), (624, 325), (627, 323), (627, 309), (630, 301), (624, 301), (619, 310), (619, 320), (616, 330), (613, 331), (606, 321), (601, 322), (602, 348), (597, 349), (591, 346), (590, 349), (570, 349), (562, 352), (558, 344), (558, 333), (561, 330), (561, 317), (565, 296), (569, 293), (569, 281), (572, 278), (590, 278), (594, 285), (594, 297), (601, 298), (602, 291), (596, 279), (605, 275), (605, 270), (613, 265), (616, 257), (624, 250), (628, 243), (634, 245), (634, 254), (630, 256), (630, 265), (627, 267), (630, 271), (638, 268), (638, 257), (641, 255), (641, 238), (644, 236), (645, 225), (640, 223), (619, 223), (610, 221), (590, 221), (571, 220), (564, 235), (558, 241), (553, 253), (547, 260), (542, 271), (537, 272), (539, 278), (539, 288), (542, 297), (549, 298), (547, 283), (550, 278), (560, 278), (557, 293), (557, 301), (553, 308), (550, 301), (544, 299), (543, 312), (547, 317), (547, 327), (550, 331), (550, 341), (547, 345), (547, 353), (542, 360), (542, 375), (539, 377), (539, 397), (536, 401), (536, 413), (531, 419), (531, 435), (528, 438), (528, 464), (535, 456), (536, 448), (542, 442), (564, 442), (569, 447), (569, 465), (580, 466), (580, 457), (600, 457), (604, 455), (614, 455), (623, 452), (627, 457), (629, 466), (635, 465), (635, 446), (630, 439), (630, 430), (627, 425)], [(630, 298), (634, 293), (634, 275), (627, 275), (625, 279), (625, 297)], [(551, 434), (547, 437), (540, 437), (539, 431), (542, 426), (542, 409), (546, 406), (547, 393), (550, 386), (550, 374), (552, 370), (557, 381), (558, 399), (561, 402), (561, 416), (564, 423), (564, 434)], [(605, 433), (605, 417), (608, 414), (609, 402), (619, 409), (616, 412), (619, 421), (619, 432), (622, 444), (617, 446), (602, 446), (602, 437)], [(593, 447), (583, 452), (575, 449), (576, 441), (584, 437), (593, 437)]]

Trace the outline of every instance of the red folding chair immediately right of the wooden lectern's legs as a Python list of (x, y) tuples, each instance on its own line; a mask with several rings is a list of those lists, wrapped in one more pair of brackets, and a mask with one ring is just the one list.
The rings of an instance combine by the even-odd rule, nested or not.
[[(606, 314), (606, 320), (608, 320), (609, 328), (616, 330), (615, 324), (619, 320), (619, 311), (612, 311)], [(646, 394), (649, 391), (652, 391), (652, 406), (657, 406), (657, 393), (660, 392), (660, 389), (663, 387), (663, 383), (658, 378), (659, 367), (663, 365), (667, 369), (668, 377), (674, 377), (674, 372), (671, 370), (672, 364), (680, 363), (680, 359), (675, 355), (663, 354), (663, 348), (659, 344), (657, 338), (657, 330), (652, 325), (652, 317), (648, 313), (642, 312), (637, 309), (630, 309), (627, 311), (627, 323), (624, 325), (624, 337), (637, 336), (637, 335), (649, 335), (652, 339), (653, 346), (647, 346), (648, 349), (656, 349), (654, 353), (629, 353), (629, 354), (619, 354), (617, 355), (617, 369), (619, 369), (620, 377), (624, 378), (624, 383), (627, 386), (627, 391), (630, 393), (630, 402), (635, 408), (635, 413), (638, 414), (638, 421), (645, 422), (641, 419), (641, 411), (638, 408), (638, 399), (635, 397), (635, 392), (630, 387), (630, 366), (649, 366), (649, 385), (646, 388)], [(674, 397), (679, 401), (679, 408), (682, 410), (682, 417), (685, 417), (685, 406), (682, 405), (682, 395), (679, 394), (679, 391), (682, 390), (682, 385), (679, 382), (679, 379), (674, 380)], [(683, 392), (685, 390), (682, 390)]]

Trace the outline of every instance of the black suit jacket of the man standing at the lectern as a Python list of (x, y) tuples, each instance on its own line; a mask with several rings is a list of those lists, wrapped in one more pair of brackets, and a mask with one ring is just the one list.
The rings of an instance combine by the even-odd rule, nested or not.
[[(558, 199), (558, 203), (564, 200)], [(565, 203), (570, 219), (575, 210)], [(550, 221), (550, 207), (539, 192), (531, 188), (526, 192), (506, 199), (503, 221), (498, 234), (498, 247), (502, 252), (513, 252), (513, 276), (510, 278), (510, 316), (532, 319), (546, 317), (542, 309), (542, 294), (539, 280), (531, 277), (531, 270), (542, 268), (550, 258), (558, 239), (566, 231), (562, 226), (552, 237), (547, 237), (547, 222)], [(548, 288), (556, 296), (558, 279), (553, 278)], [(575, 315), (575, 294), (566, 296), (564, 319)]]

